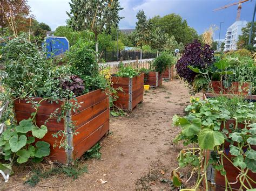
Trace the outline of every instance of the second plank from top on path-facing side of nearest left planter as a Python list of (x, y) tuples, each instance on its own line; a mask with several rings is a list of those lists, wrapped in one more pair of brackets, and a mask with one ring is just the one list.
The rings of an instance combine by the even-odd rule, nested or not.
[(75, 115), (72, 115), (71, 119), (73, 123), (76, 125), (76, 128), (79, 128), (80, 126), (89, 122), (92, 118), (98, 116), (107, 109), (109, 109), (109, 98), (105, 98), (105, 100), (96, 103)]

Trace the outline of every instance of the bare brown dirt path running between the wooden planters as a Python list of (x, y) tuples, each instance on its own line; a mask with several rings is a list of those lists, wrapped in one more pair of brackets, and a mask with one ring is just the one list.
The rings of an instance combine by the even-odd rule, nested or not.
[[(144, 93), (144, 103), (132, 114), (111, 118), (111, 134), (102, 141), (102, 159), (86, 161), (88, 173), (72, 180), (53, 176), (35, 189), (58, 190), (171, 190), (168, 179), (178, 167), (181, 145), (172, 143), (179, 129), (172, 128), (172, 116), (183, 115), (189, 104), (188, 88), (179, 80)], [(184, 179), (190, 174), (184, 172)], [(6, 189), (31, 189), (24, 176), (12, 176)], [(102, 184), (98, 180), (107, 181)]]

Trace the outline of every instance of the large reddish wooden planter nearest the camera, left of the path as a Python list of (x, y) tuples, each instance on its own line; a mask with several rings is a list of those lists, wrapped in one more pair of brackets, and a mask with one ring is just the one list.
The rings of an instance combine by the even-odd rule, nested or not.
[[(41, 140), (50, 143), (51, 153), (49, 158), (52, 161), (72, 164), (109, 131), (109, 96), (102, 90), (95, 90), (78, 96), (76, 99), (81, 107), (79, 111), (72, 110), (68, 112), (66, 122), (64, 119), (59, 123), (57, 119), (50, 119), (45, 124), (48, 133)], [(35, 98), (34, 101), (40, 100), (42, 98)], [(72, 99), (69, 102), (74, 103), (75, 100)], [(53, 102), (52, 104), (42, 101), (36, 116), (37, 125), (43, 125), (56, 109), (59, 108), (60, 111), (62, 104), (62, 101), (59, 101), (59, 103)], [(31, 107), (31, 103), (26, 103), (25, 100), (15, 101), (15, 114), (18, 122), (28, 119), (32, 112), (35, 112), (35, 109)], [(72, 130), (69, 121), (74, 123), (75, 129)], [(58, 138), (52, 136), (53, 133), (65, 130), (68, 132), (65, 136), (61, 135)], [(73, 135), (72, 131), (77, 132), (77, 135)], [(60, 140), (65, 140), (68, 147), (59, 148)]]

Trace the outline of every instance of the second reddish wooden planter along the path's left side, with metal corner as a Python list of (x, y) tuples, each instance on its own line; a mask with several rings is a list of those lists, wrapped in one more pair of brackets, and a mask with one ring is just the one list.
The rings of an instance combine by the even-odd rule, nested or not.
[[(114, 102), (116, 107), (132, 111), (143, 101), (144, 74), (135, 77), (112, 76), (112, 86), (118, 91), (118, 100)], [(123, 91), (118, 90), (122, 88)]]

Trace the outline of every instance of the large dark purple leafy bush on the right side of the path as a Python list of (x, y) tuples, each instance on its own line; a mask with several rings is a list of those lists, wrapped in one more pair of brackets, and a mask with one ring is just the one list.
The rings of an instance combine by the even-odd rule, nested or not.
[[(200, 76), (197, 71), (207, 71), (207, 68), (209, 68), (213, 62), (213, 49), (207, 44), (202, 45), (198, 40), (194, 40), (193, 43), (190, 43), (185, 47), (183, 56), (177, 62), (177, 74), (181, 79), (190, 84), (190, 86), (193, 86), (195, 91), (199, 91), (202, 87), (200, 86), (195, 88), (195, 84), (193, 84), (195, 78)], [(191, 68), (196, 69), (192, 70)], [(206, 79), (204, 77), (200, 76), (200, 80), (201, 83), (206, 83)]]

